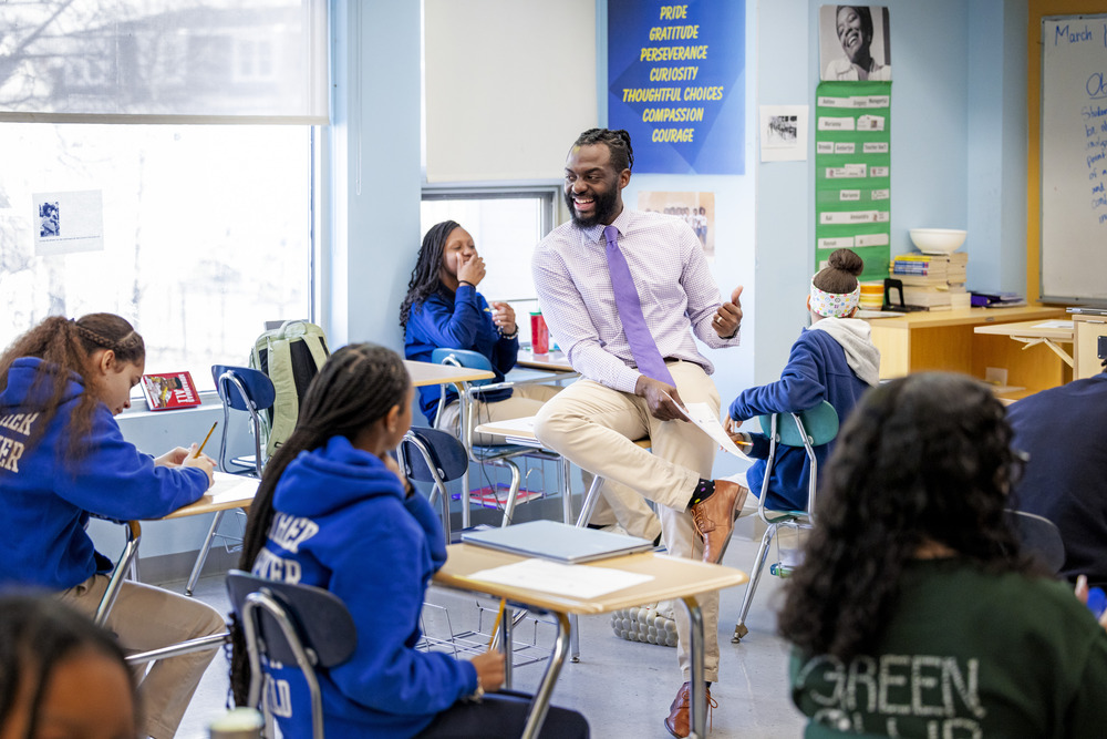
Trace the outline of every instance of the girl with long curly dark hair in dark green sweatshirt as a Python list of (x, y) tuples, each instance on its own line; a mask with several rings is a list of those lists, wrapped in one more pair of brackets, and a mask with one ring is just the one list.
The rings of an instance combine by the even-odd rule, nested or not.
[(1020, 553), (1025, 459), (970, 377), (924, 372), (853, 409), (785, 584), (807, 737), (1097, 737), (1107, 633)]

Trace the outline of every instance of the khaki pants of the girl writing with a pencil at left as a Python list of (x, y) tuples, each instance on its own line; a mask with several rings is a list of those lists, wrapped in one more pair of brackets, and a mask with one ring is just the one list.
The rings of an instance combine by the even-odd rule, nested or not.
[[(93, 575), (59, 597), (93, 617), (105, 589), (107, 576)], [(127, 654), (227, 630), (224, 617), (206, 603), (132, 581), (123, 583), (104, 626), (118, 636), (120, 646)], [(141, 736), (170, 739), (176, 733), (196, 686), (217, 654), (218, 649), (211, 649), (159, 659), (151, 665), (148, 673), (145, 665), (137, 668), (144, 719)]]

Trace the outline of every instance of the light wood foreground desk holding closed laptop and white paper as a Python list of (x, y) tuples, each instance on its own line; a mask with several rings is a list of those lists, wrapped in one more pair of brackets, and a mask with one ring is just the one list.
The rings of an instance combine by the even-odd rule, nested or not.
[[(690, 650), (692, 653), (692, 699), (691, 723), (694, 737), (705, 737), (707, 728), (707, 695), (704, 688), (703, 670), (703, 616), (695, 596), (700, 593), (718, 591), (745, 583), (748, 577), (741, 569), (722, 565), (672, 557), (665, 554), (646, 552), (630, 554), (610, 560), (600, 560), (580, 567), (607, 567), (627, 573), (650, 575), (644, 583), (632, 585), (619, 591), (593, 597), (555, 594), (541, 589), (531, 589), (514, 585), (503, 585), (473, 579), (472, 575), (483, 569), (492, 569), (504, 565), (525, 561), (523, 557), (507, 552), (499, 552), (472, 544), (453, 544), (447, 550), (446, 564), (434, 575), (434, 584), (456, 591), (466, 591), (488, 595), (495, 598), (506, 598), (511, 603), (521, 604), (536, 609), (552, 613), (557, 617), (557, 636), (550, 653), (546, 673), (535, 691), (527, 723), (523, 731), (524, 739), (538, 736), (546, 712), (549, 709), (550, 696), (557, 682), (561, 667), (565, 665), (569, 650), (569, 614), (596, 615), (630, 608), (643, 603), (679, 599), (689, 612), (691, 622)], [(510, 619), (504, 618), (507, 624)], [(504, 635), (509, 638), (507, 634)], [(586, 714), (587, 714), (587, 706)]]

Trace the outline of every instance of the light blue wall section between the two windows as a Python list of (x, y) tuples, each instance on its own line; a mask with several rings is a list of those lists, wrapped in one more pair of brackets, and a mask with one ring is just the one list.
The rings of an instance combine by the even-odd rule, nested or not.
[(333, 244), (324, 326), (334, 347), (403, 350), (400, 304), (420, 234), (420, 2), (332, 1)]

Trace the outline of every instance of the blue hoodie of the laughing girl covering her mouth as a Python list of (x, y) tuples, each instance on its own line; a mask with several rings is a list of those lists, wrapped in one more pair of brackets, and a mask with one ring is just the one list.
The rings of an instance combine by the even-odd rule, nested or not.
[[(445, 288), (427, 298), (422, 305), (412, 306), (404, 331), (404, 356), (416, 361), (431, 361), (435, 349), (468, 349), (488, 358), (496, 373), (494, 382), (503, 382), (504, 374), (515, 367), (519, 356), (519, 337), (505, 339), (496, 330), (488, 310), (488, 301), (472, 285), (458, 285), (457, 294)], [(423, 415), (434, 425), (438, 413), (442, 387), (428, 384), (418, 389), (418, 403)], [(495, 390), (483, 394), (486, 402), (506, 400), (511, 390)], [(446, 388), (446, 403), (457, 400), (457, 391)]]

